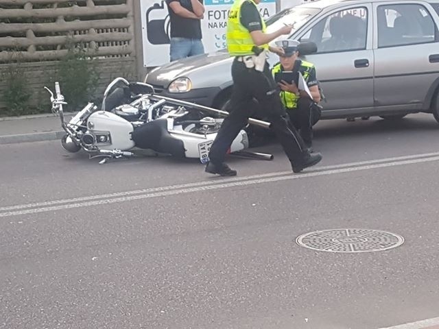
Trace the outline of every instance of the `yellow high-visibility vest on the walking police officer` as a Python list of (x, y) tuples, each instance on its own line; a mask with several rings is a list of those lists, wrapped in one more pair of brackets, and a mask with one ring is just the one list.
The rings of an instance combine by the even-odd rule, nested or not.
[[(254, 47), (254, 42), (248, 29), (241, 24), (241, 7), (244, 1), (248, 1), (257, 8), (256, 3), (253, 0), (236, 0), (230, 12), (228, 14), (227, 21), (227, 32), (226, 32), (226, 43), (227, 50), (230, 56), (247, 56), (254, 55), (252, 48)], [(259, 10), (258, 10), (259, 12)], [(262, 19), (262, 32), (265, 33), (266, 25), (265, 21)], [(262, 45), (263, 49), (268, 49), (268, 45)]]

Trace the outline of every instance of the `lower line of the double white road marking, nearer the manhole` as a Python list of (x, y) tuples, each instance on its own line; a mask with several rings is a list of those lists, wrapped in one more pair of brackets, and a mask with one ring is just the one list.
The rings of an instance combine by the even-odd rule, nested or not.
[[(438, 154), (439, 155), (439, 154)], [(413, 157), (413, 156), (410, 156)], [(399, 158), (401, 159), (401, 158)], [(375, 162), (383, 162), (385, 159), (381, 160), (373, 160)], [(164, 186), (164, 187), (158, 187), (158, 188), (147, 188), (145, 190), (137, 190), (137, 191), (128, 191), (128, 192), (121, 192), (121, 193), (112, 193), (108, 195), (95, 195), (92, 197), (81, 197), (76, 199), (69, 199), (69, 200), (58, 200), (52, 202), (52, 204), (56, 204), (55, 202), (59, 203), (67, 203), (67, 202), (73, 202), (70, 204), (59, 204), (57, 206), (47, 206), (49, 205), (46, 203), (40, 203), (40, 204), (34, 204), (37, 208), (32, 209), (26, 209), (29, 208), (29, 205), (17, 205), (13, 206), (14, 209), (21, 209), (16, 211), (5, 211), (5, 210), (11, 210), (8, 207), (0, 208), (0, 217), (9, 217), (9, 216), (16, 216), (16, 215), (27, 215), (27, 214), (35, 214), (38, 212), (47, 212), (47, 211), (53, 211), (53, 210), (62, 210), (62, 209), (70, 209), (70, 208), (80, 208), (84, 206), (98, 206), (102, 204), (114, 204), (117, 202), (128, 202), (138, 199), (148, 199), (152, 197), (164, 197), (168, 195), (179, 195), (179, 194), (185, 194), (185, 193), (195, 193), (200, 191), (209, 191), (209, 190), (217, 190), (219, 188), (228, 188), (228, 187), (236, 187), (236, 186), (248, 186), (252, 184), (262, 184), (262, 183), (270, 183), (270, 182), (278, 182), (278, 181), (286, 181), (286, 180), (297, 180), (302, 178), (310, 178), (310, 177), (316, 177), (316, 176), (322, 176), (322, 175), (333, 175), (337, 173), (349, 173), (353, 171), (361, 171), (361, 170), (368, 170), (368, 169), (378, 169), (378, 168), (387, 168), (387, 167), (394, 167), (394, 166), (401, 166), (405, 164), (416, 164), (421, 162), (431, 162), (431, 161), (438, 161), (439, 156), (427, 156), (422, 158), (414, 158), (412, 160), (398, 160), (393, 162), (384, 162), (384, 163), (377, 163), (377, 164), (366, 164), (362, 166), (357, 167), (351, 167), (353, 164), (341, 164), (338, 166), (331, 166), (335, 167), (335, 169), (324, 169), (324, 167), (320, 167), (319, 171), (309, 171), (301, 174), (292, 174), (291, 171), (284, 171), (281, 173), (267, 173), (265, 175), (252, 175), (247, 176), (243, 178), (232, 178), (228, 180), (221, 180), (215, 182), (196, 182), (196, 183), (189, 183), (189, 184), (181, 184), (181, 185), (174, 185), (174, 186)], [(355, 163), (355, 162), (354, 162)], [(361, 162), (356, 162), (361, 163)], [(364, 163), (372, 163), (372, 162), (364, 162)], [(328, 168), (328, 167), (327, 167)], [(322, 170), (323, 169), (323, 170)], [(288, 175), (285, 175), (288, 174)], [(138, 195), (132, 195), (133, 193), (136, 193)], [(121, 196), (121, 197), (119, 197)], [(102, 199), (106, 197), (106, 199)], [(99, 199), (97, 199), (99, 198)], [(85, 201), (90, 199), (97, 199), (95, 201)], [(80, 201), (80, 202), (78, 202)], [(82, 202), (83, 201), (83, 202)], [(50, 202), (49, 202), (50, 203)], [(3, 211), (3, 212), (1, 212)]]

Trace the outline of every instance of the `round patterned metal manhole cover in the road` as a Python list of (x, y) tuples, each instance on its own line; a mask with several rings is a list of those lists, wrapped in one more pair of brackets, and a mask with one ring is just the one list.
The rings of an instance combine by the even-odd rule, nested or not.
[(320, 252), (379, 252), (399, 247), (404, 238), (384, 231), (342, 228), (302, 234), (296, 243)]

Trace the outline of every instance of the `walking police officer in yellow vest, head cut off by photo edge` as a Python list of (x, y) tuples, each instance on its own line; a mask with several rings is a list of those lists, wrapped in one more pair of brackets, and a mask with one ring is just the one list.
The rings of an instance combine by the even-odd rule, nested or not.
[(233, 92), (228, 103), (230, 113), (222, 123), (209, 152), (209, 163), (205, 171), (223, 176), (233, 176), (237, 172), (230, 169), (224, 157), (239, 131), (254, 114), (253, 99), (257, 99), (265, 112), (265, 117), (280, 141), (285, 154), (292, 164), (294, 173), (317, 164), (320, 154), (310, 154), (302, 138), (294, 127), (289, 127), (287, 114), (278, 95), (268, 66), (267, 51), (283, 53), (283, 49), (269, 47), (268, 42), (283, 34), (290, 34), (292, 27), (285, 25), (276, 32), (267, 33), (265, 22), (257, 8), (261, 0), (235, 0), (230, 8), (226, 43), (233, 56)]

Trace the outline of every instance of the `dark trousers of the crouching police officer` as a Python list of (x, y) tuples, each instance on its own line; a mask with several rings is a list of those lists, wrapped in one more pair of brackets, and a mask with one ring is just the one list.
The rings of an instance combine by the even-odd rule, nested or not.
[(313, 106), (311, 99), (300, 97), (297, 101), (297, 108), (287, 109), (290, 122), (300, 132), (307, 147), (311, 147), (313, 143), (313, 124), (315, 124), (311, 106)]

